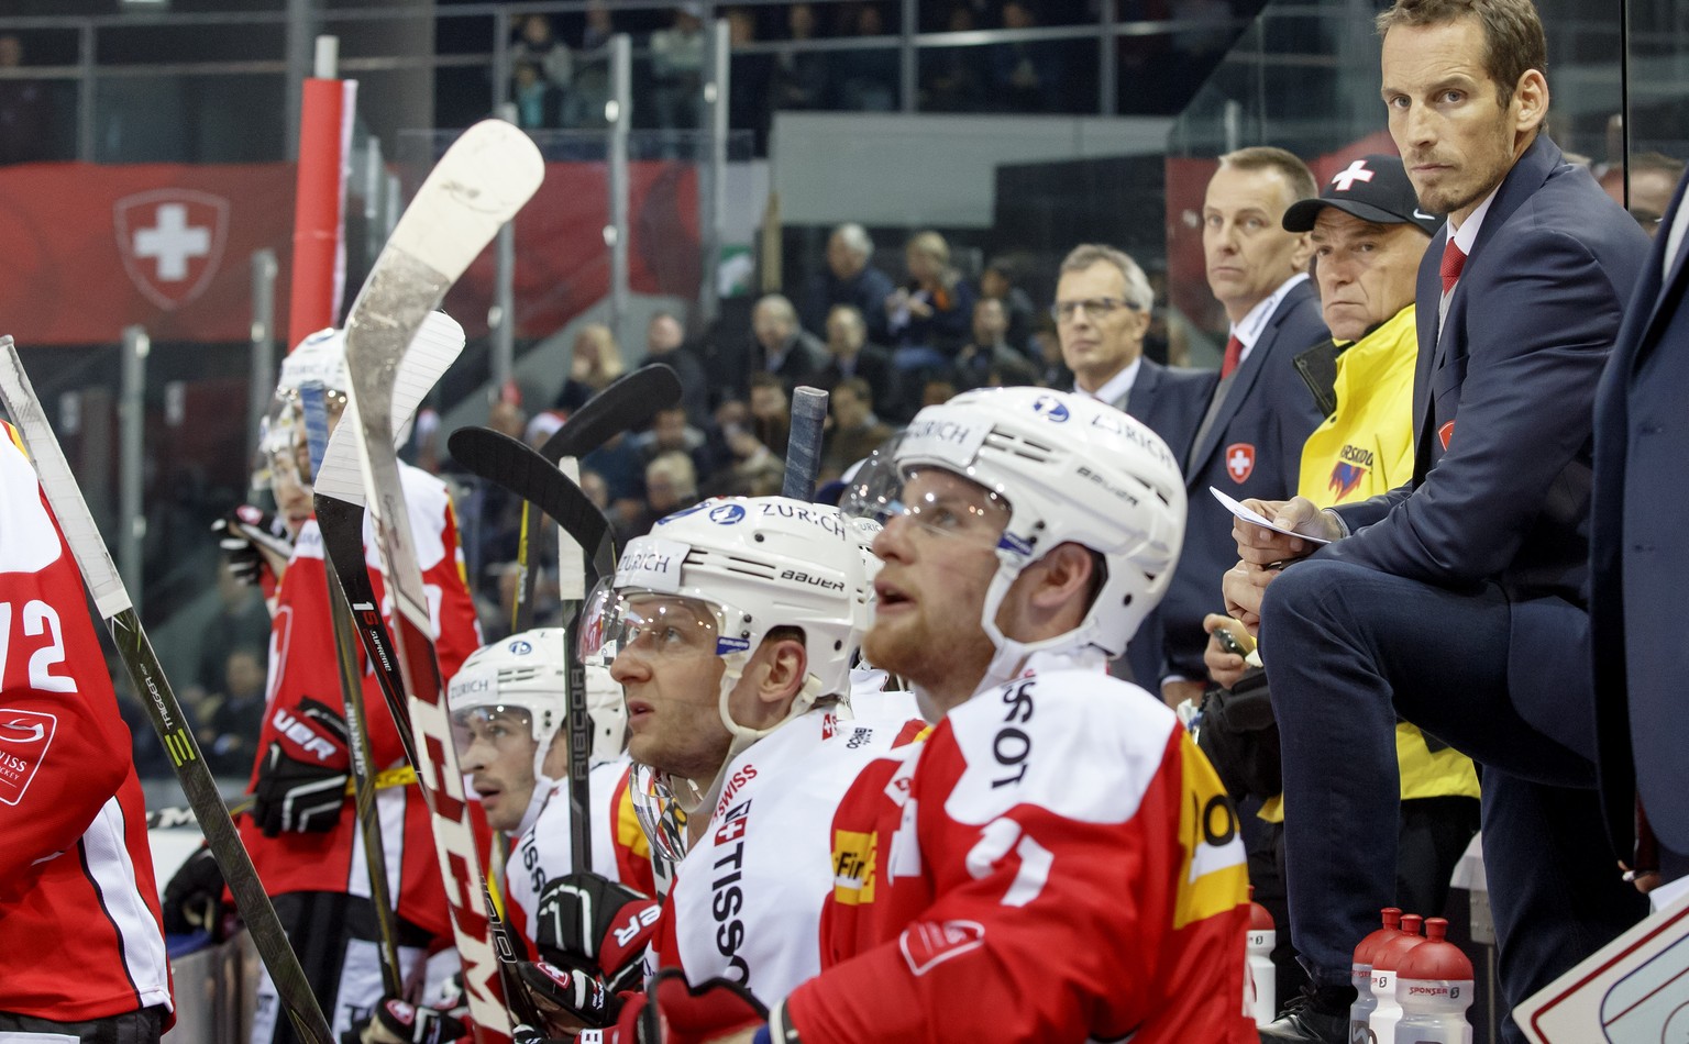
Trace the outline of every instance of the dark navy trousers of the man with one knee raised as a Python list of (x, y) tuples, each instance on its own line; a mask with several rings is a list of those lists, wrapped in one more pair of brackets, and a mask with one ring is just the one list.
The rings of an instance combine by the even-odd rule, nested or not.
[[(1355, 944), (1395, 895), (1397, 715), (1485, 767), (1508, 1007), (1642, 916), (1608, 851), (1589, 759), (1515, 708), (1508, 623), (1495, 586), (1456, 593), (1341, 561), (1297, 563), (1267, 590), (1290, 934), (1316, 985), (1348, 985)], [(1512, 1025), (1503, 1037), (1520, 1039)]]

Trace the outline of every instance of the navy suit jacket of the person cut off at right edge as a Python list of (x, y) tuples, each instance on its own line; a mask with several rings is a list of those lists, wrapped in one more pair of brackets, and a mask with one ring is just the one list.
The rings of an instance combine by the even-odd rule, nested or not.
[(1630, 299), (1594, 404), (1589, 627), (1601, 794), (1628, 855), (1640, 791), (1660, 843), (1689, 853), (1682, 583), (1689, 459), (1689, 264), (1665, 257), (1686, 177)]

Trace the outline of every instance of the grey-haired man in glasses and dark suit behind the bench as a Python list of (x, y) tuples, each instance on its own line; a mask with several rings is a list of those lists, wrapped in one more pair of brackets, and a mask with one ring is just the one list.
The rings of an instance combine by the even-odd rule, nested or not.
[[(1073, 370), (1073, 390), (1132, 414), (1182, 461), (1218, 375), (1172, 370), (1143, 358), (1143, 333), (1154, 304), (1149, 279), (1130, 255), (1084, 243), (1062, 260), (1051, 311), (1062, 362)], [(1138, 627), (1123, 661), (1115, 664), (1115, 674), (1154, 691), (1162, 661), (1154, 615)], [(1130, 667), (1130, 676), (1120, 672), (1121, 666)]]

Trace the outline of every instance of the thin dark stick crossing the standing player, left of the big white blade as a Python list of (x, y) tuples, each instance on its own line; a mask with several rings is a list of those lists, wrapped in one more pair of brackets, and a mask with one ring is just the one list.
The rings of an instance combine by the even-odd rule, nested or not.
[[(299, 387), (299, 405), (306, 416), (306, 443), (311, 448), (311, 478), (323, 470), (328, 449), (328, 402), (319, 382)], [(326, 554), (326, 552), (324, 552)], [(399, 919), (394, 895), (387, 887), (387, 845), (382, 821), (375, 814), (375, 753), (370, 750), (368, 716), (363, 711), (363, 669), (358, 662), (358, 639), (339, 576), (326, 568), (328, 612), (334, 627), (334, 659), (339, 661), (339, 693), (346, 711), (346, 738), (351, 752), (351, 809), (363, 836), (363, 868), (370, 875), (370, 905), (375, 907), (377, 954), (382, 963), (382, 990), (387, 997), (404, 997), (405, 976), (399, 968)]]

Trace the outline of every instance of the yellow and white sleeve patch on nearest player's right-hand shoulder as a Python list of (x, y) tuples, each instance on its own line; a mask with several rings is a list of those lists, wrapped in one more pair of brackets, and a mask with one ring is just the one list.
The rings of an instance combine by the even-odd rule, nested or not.
[(1214, 769), (1196, 748), (1191, 733), (1179, 730), (1179, 762), (1184, 804), (1179, 807), (1179, 889), (1174, 899), (1174, 929), (1225, 914), (1248, 902), (1248, 865), (1238, 838), (1238, 814), (1219, 786)]

